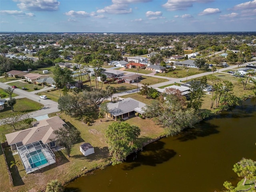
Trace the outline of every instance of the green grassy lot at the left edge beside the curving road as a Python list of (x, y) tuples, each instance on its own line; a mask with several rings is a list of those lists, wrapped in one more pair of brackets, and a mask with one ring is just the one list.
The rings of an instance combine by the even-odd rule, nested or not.
[(39, 110), (43, 107), (42, 104), (32, 101), (28, 98), (21, 98), (16, 100), (16, 104), (14, 105), (14, 112), (7, 104), (4, 104), (4, 110), (1, 110), (0, 118), (6, 118), (10, 114), (22, 112), (22, 113), (29, 113), (35, 110)]

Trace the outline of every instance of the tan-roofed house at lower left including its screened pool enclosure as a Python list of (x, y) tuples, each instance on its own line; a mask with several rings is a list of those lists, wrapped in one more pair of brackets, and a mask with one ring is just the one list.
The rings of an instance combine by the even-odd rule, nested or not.
[(5, 135), (11, 149), (18, 151), (27, 174), (56, 162), (51, 150), (56, 147), (54, 130), (64, 126), (68, 125), (55, 116), (38, 121), (32, 128)]

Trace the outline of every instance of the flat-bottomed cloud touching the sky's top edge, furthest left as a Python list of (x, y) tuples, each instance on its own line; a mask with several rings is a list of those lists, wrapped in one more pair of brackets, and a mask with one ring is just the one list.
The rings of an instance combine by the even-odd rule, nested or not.
[(56, 11), (60, 2), (57, 0), (14, 0), (21, 10)]

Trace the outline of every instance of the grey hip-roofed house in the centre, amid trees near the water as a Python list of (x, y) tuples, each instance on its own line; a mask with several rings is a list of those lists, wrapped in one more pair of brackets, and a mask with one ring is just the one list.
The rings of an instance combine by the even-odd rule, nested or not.
[(114, 120), (128, 119), (130, 116), (134, 116), (136, 112), (143, 115), (145, 114), (146, 104), (139, 102), (132, 98), (125, 98), (120, 102), (108, 103), (108, 114), (110, 118)]

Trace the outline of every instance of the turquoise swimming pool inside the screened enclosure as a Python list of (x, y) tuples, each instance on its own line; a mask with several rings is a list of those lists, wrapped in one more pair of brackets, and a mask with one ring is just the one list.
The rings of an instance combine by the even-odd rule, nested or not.
[(36, 168), (36, 167), (44, 165), (48, 162), (46, 157), (44, 156), (44, 154), (42, 153), (42, 151), (40, 149), (30, 152), (26, 156), (27, 156), (30, 166), (32, 168)]

